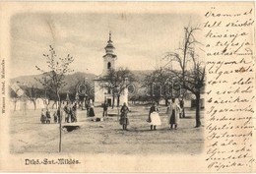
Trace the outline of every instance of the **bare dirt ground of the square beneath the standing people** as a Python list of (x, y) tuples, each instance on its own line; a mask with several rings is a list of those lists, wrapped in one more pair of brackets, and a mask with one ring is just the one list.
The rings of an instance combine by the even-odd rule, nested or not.
[[(96, 117), (101, 117), (102, 108), (95, 110)], [(146, 122), (149, 107), (134, 106), (131, 110), (128, 131), (121, 130), (116, 116), (108, 117), (103, 122), (93, 122), (92, 118), (86, 117), (86, 111), (78, 110), (78, 122), (64, 125), (80, 126), (80, 129), (62, 132), (62, 151), (146, 155), (194, 155), (202, 151), (203, 128), (194, 128), (195, 111), (186, 110), (187, 118), (180, 119), (178, 129), (169, 130), (165, 107), (161, 107), (162, 125), (157, 131), (150, 131), (150, 125)], [(109, 112), (116, 111), (109, 109)], [(59, 125), (40, 124), (40, 110), (29, 110), (26, 115), (15, 111), (10, 116), (11, 152), (58, 152)]]

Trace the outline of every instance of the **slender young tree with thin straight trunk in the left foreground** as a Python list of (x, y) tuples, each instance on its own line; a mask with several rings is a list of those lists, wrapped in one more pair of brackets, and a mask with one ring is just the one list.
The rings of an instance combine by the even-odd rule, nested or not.
[[(36, 79), (43, 87), (47, 90), (52, 91), (58, 98), (58, 112), (60, 112), (61, 108), (61, 99), (60, 99), (60, 90), (62, 87), (66, 85), (65, 76), (68, 73), (73, 72), (70, 69), (70, 64), (74, 61), (74, 58), (69, 54), (65, 58), (57, 58), (54, 48), (49, 46), (49, 54), (43, 54), (43, 57), (46, 60), (46, 64), (48, 65), (49, 71), (42, 70), (38, 66), (35, 68), (43, 74), (41, 79)], [(60, 116), (61, 118), (61, 116)], [(59, 121), (59, 152), (61, 151), (61, 121)]]

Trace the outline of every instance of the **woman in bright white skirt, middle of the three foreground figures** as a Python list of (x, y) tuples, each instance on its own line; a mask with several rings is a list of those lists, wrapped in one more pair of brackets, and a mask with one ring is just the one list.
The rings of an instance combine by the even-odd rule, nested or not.
[(151, 124), (151, 130), (153, 130), (153, 128), (154, 130), (157, 130), (157, 126), (161, 125), (159, 111), (159, 107), (154, 102), (151, 106), (149, 113), (149, 122)]

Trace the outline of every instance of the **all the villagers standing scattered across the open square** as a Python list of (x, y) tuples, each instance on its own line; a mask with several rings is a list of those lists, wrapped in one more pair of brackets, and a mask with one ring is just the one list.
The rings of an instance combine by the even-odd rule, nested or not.
[[(170, 125), (170, 129), (177, 129), (177, 125), (178, 125), (178, 120), (180, 117), (183, 117), (183, 111), (184, 111), (184, 103), (179, 101), (179, 104), (176, 102), (175, 98), (171, 99), (171, 102), (168, 103), (168, 107), (167, 107), (167, 123)], [(107, 116), (107, 108), (108, 108), (108, 104), (105, 101), (102, 105), (103, 108), (103, 114), (102, 117)], [(65, 116), (65, 123), (72, 123), (72, 122), (77, 122), (77, 103), (69, 104), (68, 102), (66, 103), (66, 105), (64, 105), (63, 107), (63, 111), (64, 111), (64, 116)], [(60, 113), (60, 109), (57, 109), (54, 114), (54, 123), (59, 123), (61, 120), (61, 113)], [(120, 109), (120, 119), (119, 119), (119, 123), (120, 125), (122, 125), (122, 129), (123, 130), (127, 130), (127, 126), (130, 124), (129, 122), (129, 117), (128, 117), (128, 113), (130, 112), (129, 107), (127, 106), (127, 104), (124, 102), (121, 109)], [(154, 102), (150, 108), (150, 112), (149, 112), (149, 116), (147, 119), (147, 122), (150, 124), (150, 130), (157, 130), (157, 126), (161, 125), (161, 121), (160, 121), (160, 109), (158, 104), (156, 104), (156, 102)], [(92, 101), (89, 102), (88, 106), (87, 106), (87, 116), (88, 117), (95, 117), (95, 110), (94, 110), (94, 104)], [(46, 111), (44, 111), (44, 109), (41, 110), (41, 117), (40, 117), (40, 121), (41, 123), (50, 123), (50, 110), (46, 109)]]

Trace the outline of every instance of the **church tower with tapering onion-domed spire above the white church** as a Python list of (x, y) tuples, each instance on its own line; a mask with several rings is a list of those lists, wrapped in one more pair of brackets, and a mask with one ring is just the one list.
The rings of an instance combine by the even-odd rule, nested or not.
[(103, 55), (102, 75), (106, 76), (110, 69), (115, 68), (115, 60), (117, 59), (117, 56), (114, 54), (115, 47), (113, 46), (113, 42), (111, 40), (111, 31), (109, 32), (109, 39), (104, 49), (105, 49), (105, 55)]

